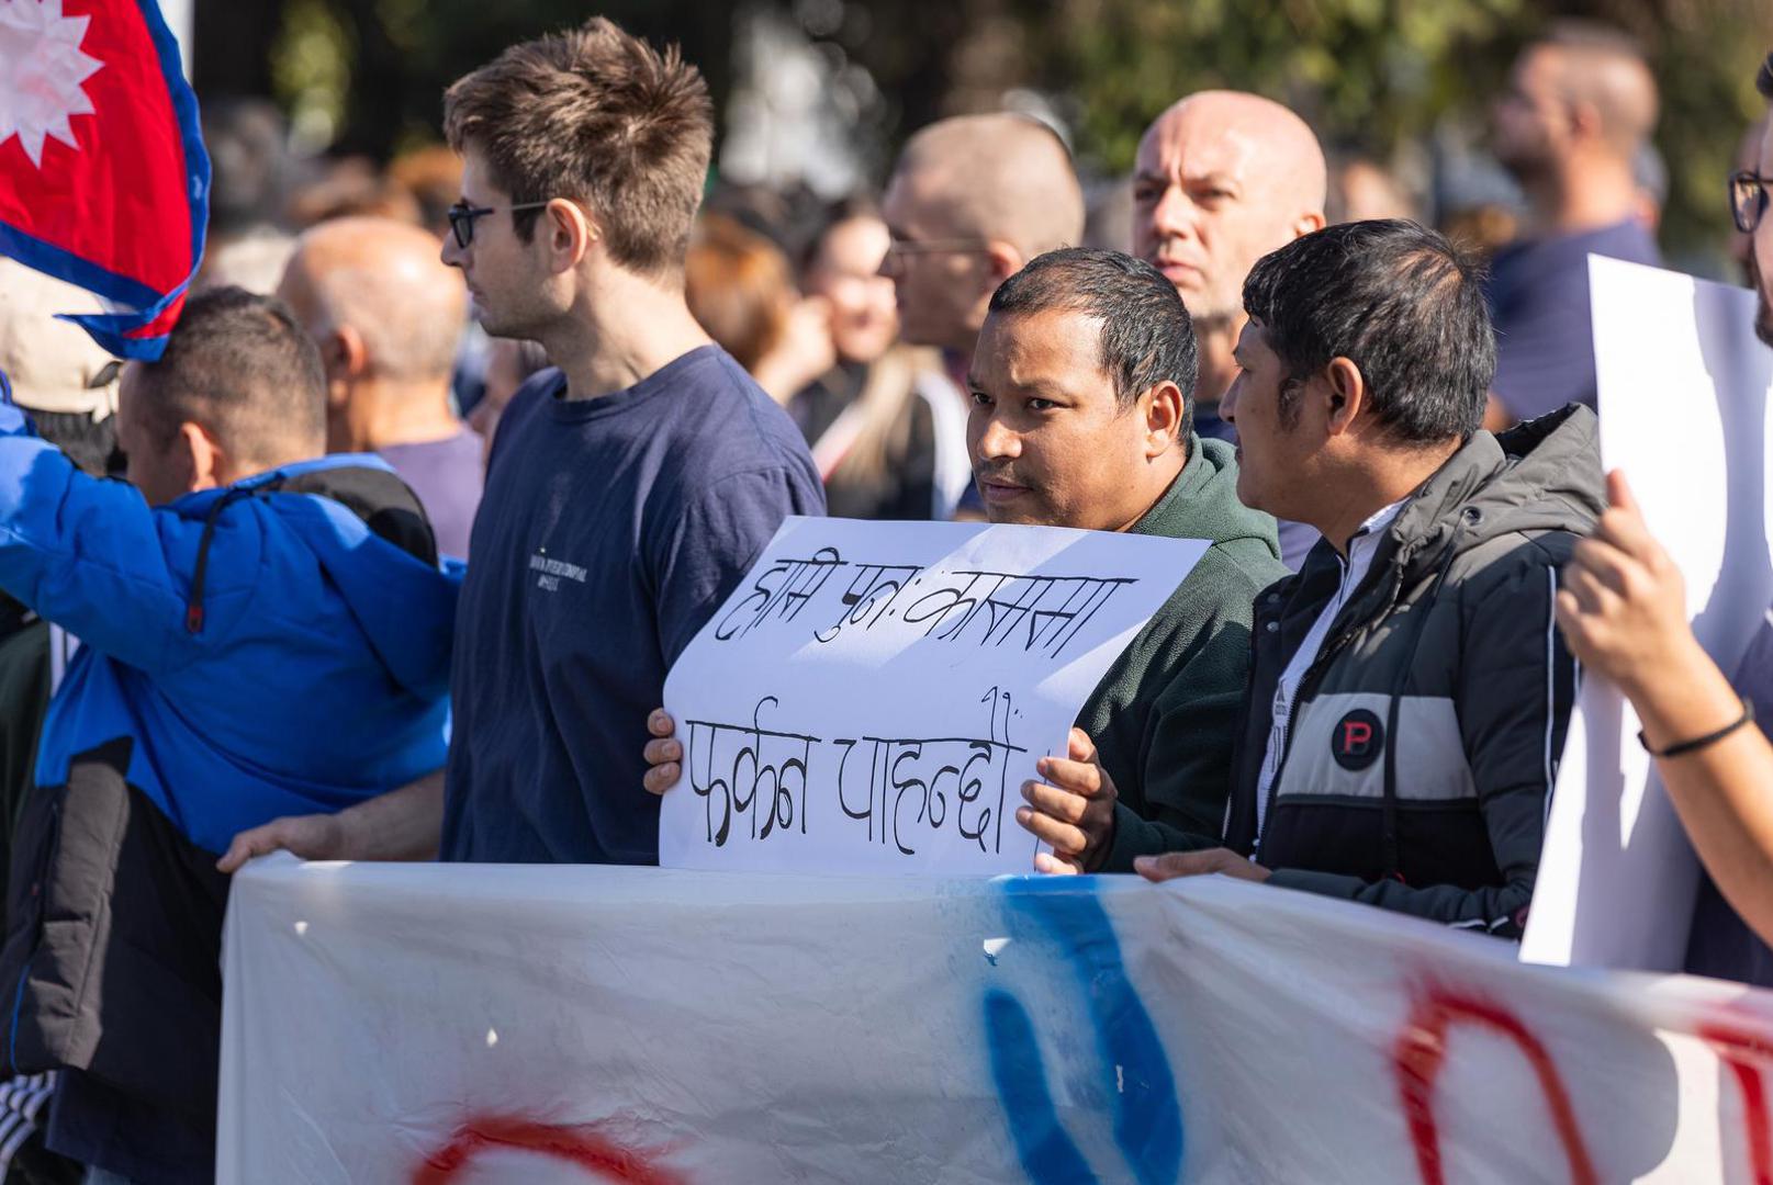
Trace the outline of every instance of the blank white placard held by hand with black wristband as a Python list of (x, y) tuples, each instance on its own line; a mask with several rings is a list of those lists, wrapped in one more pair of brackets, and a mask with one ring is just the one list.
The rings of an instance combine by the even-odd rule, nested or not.
[[(1686, 577), (1693, 632), (1732, 673), (1773, 599), (1768, 400), (1755, 296), (1589, 257), (1601, 459)], [(1699, 864), (1619, 689), (1585, 678), (1521, 958), (1679, 971)]]

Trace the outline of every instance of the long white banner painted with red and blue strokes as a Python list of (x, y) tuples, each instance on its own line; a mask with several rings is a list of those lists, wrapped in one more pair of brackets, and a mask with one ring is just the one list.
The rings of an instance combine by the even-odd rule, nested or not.
[(1204, 879), (234, 882), (222, 1181), (1762, 1181), (1730, 985)]

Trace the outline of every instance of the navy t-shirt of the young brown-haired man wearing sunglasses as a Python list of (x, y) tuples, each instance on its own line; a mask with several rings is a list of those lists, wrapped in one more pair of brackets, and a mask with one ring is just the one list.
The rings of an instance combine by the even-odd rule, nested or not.
[(456, 616), (443, 859), (658, 863), (640, 785), (665, 671), (791, 514), (824, 514), (800, 430), (732, 358), (626, 391), (511, 400)]

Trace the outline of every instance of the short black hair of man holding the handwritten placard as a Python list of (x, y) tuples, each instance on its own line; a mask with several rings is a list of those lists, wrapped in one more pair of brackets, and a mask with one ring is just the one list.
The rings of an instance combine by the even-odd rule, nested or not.
[(1066, 246), (1037, 255), (991, 296), (991, 315), (1062, 310), (1101, 321), (1101, 363), (1115, 402), (1131, 407), (1158, 383), (1183, 391), (1181, 436), (1195, 427), (1195, 324), (1161, 271), (1124, 252)]

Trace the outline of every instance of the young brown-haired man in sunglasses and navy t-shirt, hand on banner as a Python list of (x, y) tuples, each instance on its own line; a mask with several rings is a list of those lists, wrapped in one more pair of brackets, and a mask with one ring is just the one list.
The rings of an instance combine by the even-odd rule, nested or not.
[(633, 737), (782, 519), (823, 514), (800, 430), (684, 305), (713, 145), (700, 73), (596, 18), (443, 97), (443, 262), (493, 337), (541, 342), (473, 524), (443, 786), (239, 836), (300, 856), (652, 864)]

